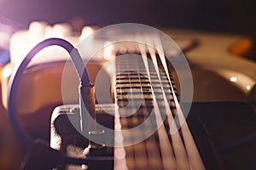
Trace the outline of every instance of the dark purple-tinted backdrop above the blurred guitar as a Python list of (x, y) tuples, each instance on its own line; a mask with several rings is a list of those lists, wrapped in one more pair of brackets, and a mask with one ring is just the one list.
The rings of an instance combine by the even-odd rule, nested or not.
[(253, 0), (0, 0), (0, 15), (27, 26), (32, 20), (50, 24), (79, 16), (87, 24), (106, 26), (137, 22), (256, 37)]

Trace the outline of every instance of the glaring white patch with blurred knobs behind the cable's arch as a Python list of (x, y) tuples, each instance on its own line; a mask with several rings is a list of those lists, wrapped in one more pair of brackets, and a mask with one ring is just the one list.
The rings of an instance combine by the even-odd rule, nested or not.
[[(79, 43), (79, 35), (73, 35), (73, 28), (67, 23), (50, 26), (45, 21), (33, 21), (28, 30), (17, 31), (10, 41), (10, 60), (19, 63), (38, 42), (50, 37), (59, 37), (71, 42), (74, 46)], [(44, 56), (44, 57), (43, 57)], [(61, 48), (50, 47), (44, 49), (32, 59), (31, 65), (68, 59), (68, 54)]]

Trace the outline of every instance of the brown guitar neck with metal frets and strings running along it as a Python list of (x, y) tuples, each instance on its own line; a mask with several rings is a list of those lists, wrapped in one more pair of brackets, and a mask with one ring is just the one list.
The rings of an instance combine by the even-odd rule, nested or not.
[(180, 113), (171, 69), (166, 72), (159, 56), (155, 57), (125, 54), (116, 59), (115, 103), (119, 109), (115, 125), (119, 131), (114, 139), (114, 167), (204, 169)]

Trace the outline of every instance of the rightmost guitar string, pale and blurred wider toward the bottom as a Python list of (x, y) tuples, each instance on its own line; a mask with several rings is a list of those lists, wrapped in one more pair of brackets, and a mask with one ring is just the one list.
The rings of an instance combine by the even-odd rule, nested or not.
[[(177, 107), (177, 116), (178, 116), (179, 122), (182, 123), (181, 130), (182, 130), (182, 133), (183, 133), (183, 141), (184, 141), (185, 148), (187, 150), (187, 154), (188, 154), (188, 157), (189, 157), (190, 166), (193, 169), (199, 169), (199, 170), (200, 169), (205, 169), (204, 164), (201, 160), (201, 156), (199, 154), (199, 151), (197, 150), (197, 147), (195, 145), (195, 140), (193, 139), (193, 137), (191, 135), (191, 132), (189, 130), (189, 126), (188, 126), (188, 124), (185, 121), (185, 118), (183, 116), (183, 111), (181, 110), (181, 107), (180, 107), (180, 105), (177, 101), (177, 96), (174, 92), (171, 77), (169, 75), (169, 71), (168, 71), (168, 68), (167, 68), (167, 65), (166, 65), (166, 58), (163, 54), (163, 48), (162, 48), (162, 44), (161, 44), (161, 41), (160, 41), (160, 37), (154, 37), (154, 44), (157, 47), (157, 49), (159, 49), (158, 52), (159, 52), (159, 55), (160, 55), (160, 61), (161, 61), (161, 64), (164, 66), (164, 70), (166, 71), (168, 81), (171, 85), (173, 98), (174, 98), (174, 101), (175, 101), (175, 105)], [(170, 133), (172, 133), (172, 132), (170, 131)]]

